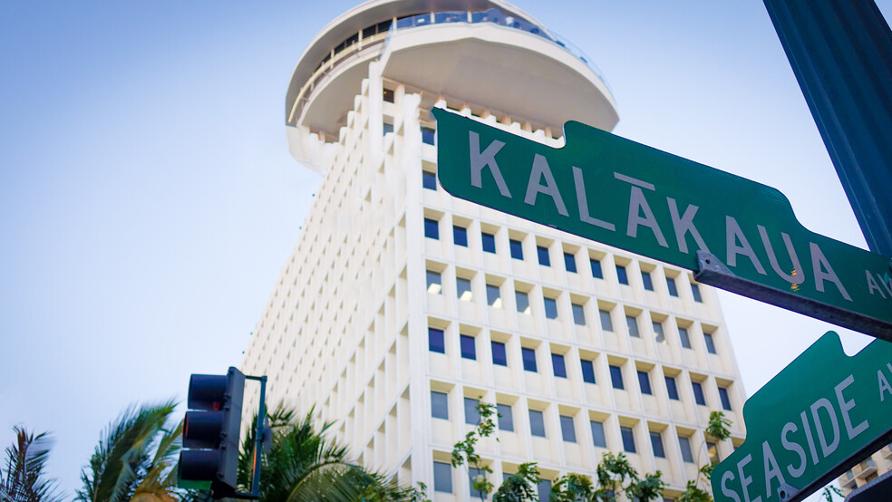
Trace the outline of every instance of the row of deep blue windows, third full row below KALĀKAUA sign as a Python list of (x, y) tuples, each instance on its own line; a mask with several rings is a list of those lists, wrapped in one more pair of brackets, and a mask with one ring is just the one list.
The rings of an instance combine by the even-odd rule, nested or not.
[[(477, 339), (468, 334), (460, 334), (460, 350), (461, 358), (477, 361)], [(492, 363), (497, 366), (508, 366), (508, 348), (505, 343), (495, 340), (490, 342)], [(446, 333), (440, 328), (428, 328), (428, 346), (431, 352), (446, 353)], [(520, 347), (520, 362), (525, 372), (538, 372), (538, 363), (536, 358), (536, 349), (531, 347)], [(579, 366), (582, 372), (582, 380), (593, 385), (597, 384), (595, 376), (595, 362), (589, 359), (579, 359)], [(614, 389), (625, 391), (625, 379), (623, 377), (623, 368), (618, 364), (609, 364), (610, 384)], [(551, 371), (557, 378), (567, 378), (567, 361), (566, 355), (557, 352), (551, 352)], [(654, 395), (651, 386), (650, 372), (636, 369), (635, 370), (638, 387), (642, 394)], [(678, 393), (678, 383), (676, 378), (671, 375), (664, 375), (666, 383), (666, 392), (669, 399), (679, 401), (681, 398)], [(703, 392), (703, 383), (700, 381), (691, 381), (694, 401), (706, 406), (706, 395)], [(731, 394), (726, 387), (718, 386), (719, 400), (722, 401), (722, 409), (732, 410)]]

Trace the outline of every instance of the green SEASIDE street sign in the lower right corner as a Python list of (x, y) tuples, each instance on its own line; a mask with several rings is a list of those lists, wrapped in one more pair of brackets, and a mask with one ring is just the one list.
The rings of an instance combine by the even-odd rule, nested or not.
[(713, 469), (717, 502), (800, 500), (888, 443), (892, 343), (853, 357), (825, 333), (743, 406), (746, 441)]

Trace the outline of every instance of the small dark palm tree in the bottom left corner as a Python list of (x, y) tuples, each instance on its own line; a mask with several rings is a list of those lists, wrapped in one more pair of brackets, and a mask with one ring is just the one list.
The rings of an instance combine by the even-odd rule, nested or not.
[(28, 434), (15, 426), (15, 443), (6, 448), (5, 474), (0, 469), (0, 502), (56, 502), (55, 479), (45, 478), (52, 439), (43, 432)]

